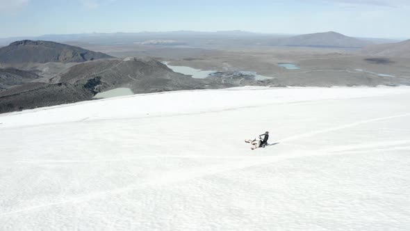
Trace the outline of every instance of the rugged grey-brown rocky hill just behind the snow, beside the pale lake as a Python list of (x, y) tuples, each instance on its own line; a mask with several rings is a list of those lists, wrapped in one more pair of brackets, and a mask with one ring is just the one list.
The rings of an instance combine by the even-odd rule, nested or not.
[(113, 88), (131, 88), (133, 93), (153, 93), (165, 90), (202, 88), (202, 81), (172, 72), (161, 62), (149, 57), (111, 58), (81, 63), (70, 67), (65, 74), (52, 81), (85, 83), (98, 79), (95, 92)]

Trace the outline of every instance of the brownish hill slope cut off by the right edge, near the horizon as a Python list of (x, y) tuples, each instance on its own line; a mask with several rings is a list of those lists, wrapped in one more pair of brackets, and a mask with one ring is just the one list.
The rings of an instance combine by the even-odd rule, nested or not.
[(375, 56), (410, 58), (410, 40), (381, 45), (371, 45), (365, 47), (363, 49), (363, 53)]

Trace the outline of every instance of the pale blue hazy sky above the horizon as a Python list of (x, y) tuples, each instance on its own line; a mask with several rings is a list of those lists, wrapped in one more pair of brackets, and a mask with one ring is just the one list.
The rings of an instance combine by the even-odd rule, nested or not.
[(0, 0), (0, 38), (222, 31), (410, 38), (410, 0)]

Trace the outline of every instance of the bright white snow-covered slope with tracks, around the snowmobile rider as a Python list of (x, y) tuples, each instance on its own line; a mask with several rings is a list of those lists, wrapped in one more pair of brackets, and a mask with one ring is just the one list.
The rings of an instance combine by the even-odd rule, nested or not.
[(3, 114), (0, 230), (409, 230), (409, 102), (236, 88)]

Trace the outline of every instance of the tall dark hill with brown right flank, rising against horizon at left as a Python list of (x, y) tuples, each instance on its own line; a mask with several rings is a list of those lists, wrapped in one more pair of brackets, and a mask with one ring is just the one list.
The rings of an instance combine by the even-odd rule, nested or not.
[(0, 63), (81, 63), (107, 54), (49, 41), (22, 40), (0, 48)]

